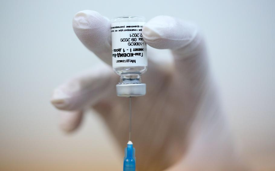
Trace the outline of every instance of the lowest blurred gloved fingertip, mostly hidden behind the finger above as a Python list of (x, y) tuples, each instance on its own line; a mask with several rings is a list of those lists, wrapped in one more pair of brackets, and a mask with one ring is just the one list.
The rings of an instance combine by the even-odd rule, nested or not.
[(64, 132), (72, 132), (76, 130), (82, 121), (82, 110), (60, 111), (59, 127)]

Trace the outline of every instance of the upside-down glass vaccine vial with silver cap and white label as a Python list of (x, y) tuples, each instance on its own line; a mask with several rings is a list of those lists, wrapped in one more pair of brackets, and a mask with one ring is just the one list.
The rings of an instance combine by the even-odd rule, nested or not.
[(146, 94), (141, 74), (147, 71), (147, 47), (142, 37), (144, 17), (115, 17), (111, 20), (112, 66), (120, 75), (117, 95), (123, 97)]

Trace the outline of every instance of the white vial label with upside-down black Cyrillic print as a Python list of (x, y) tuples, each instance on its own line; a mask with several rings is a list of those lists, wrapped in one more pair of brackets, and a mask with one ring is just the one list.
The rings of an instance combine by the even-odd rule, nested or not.
[(142, 37), (145, 22), (112, 23), (113, 67), (147, 66), (147, 48)]

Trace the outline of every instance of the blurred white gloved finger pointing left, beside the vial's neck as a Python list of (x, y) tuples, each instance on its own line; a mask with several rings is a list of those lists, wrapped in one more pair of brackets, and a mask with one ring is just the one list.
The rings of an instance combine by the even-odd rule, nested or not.
[(81, 110), (115, 96), (117, 82), (118, 76), (109, 66), (94, 68), (58, 86), (51, 103), (61, 110)]

